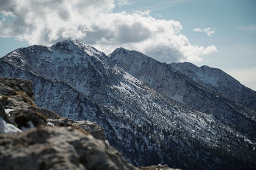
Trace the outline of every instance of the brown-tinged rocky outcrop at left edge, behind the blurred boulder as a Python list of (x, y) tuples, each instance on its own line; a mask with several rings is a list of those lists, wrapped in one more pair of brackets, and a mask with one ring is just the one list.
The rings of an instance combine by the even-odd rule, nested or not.
[(47, 125), (47, 118), (60, 118), (36, 106), (31, 81), (0, 77), (0, 82), (1, 117), (7, 123), (22, 129)]

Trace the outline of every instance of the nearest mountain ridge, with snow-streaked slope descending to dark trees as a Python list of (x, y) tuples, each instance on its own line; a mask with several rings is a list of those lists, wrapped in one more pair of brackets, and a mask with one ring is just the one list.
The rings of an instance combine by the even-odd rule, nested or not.
[[(184, 169), (188, 166), (212, 168), (225, 167), (224, 162), (228, 161), (236, 164), (237, 155), (243, 159), (250, 155), (255, 159), (256, 155), (249, 150), (256, 144), (249, 134), (237, 131), (216, 115), (196, 111), (164, 96), (115, 64), (111, 57), (102, 53), (98, 53), (102, 54), (101, 57), (95, 57), (97, 53), (79, 54), (83, 49), (72, 52), (66, 47), (61, 43), (56, 47), (61, 50), (60, 57), (66, 60), (57, 60), (58, 55), (48, 53), (47, 47), (36, 48), (38, 51), (24, 48), (8, 53), (0, 59), (0, 75), (31, 80), (38, 93), (36, 104), (59, 110), (70, 118), (98, 122), (104, 127), (109, 143), (136, 165), (160, 162)], [(22, 53), (18, 55), (18, 52)], [(156, 66), (152, 69), (157, 69)], [(180, 81), (182, 85), (184, 77), (174, 72), (173, 75), (183, 78)], [(58, 83), (62, 78), (67, 85)], [(204, 94), (205, 91), (202, 92)], [(52, 102), (46, 103), (49, 99)], [(235, 156), (230, 160), (221, 157), (218, 163), (216, 155), (207, 156), (207, 150), (212, 154), (223, 152), (226, 156), (231, 154), (231, 150)], [(197, 152), (200, 156), (196, 155)], [(188, 160), (187, 166), (177, 158), (178, 155)]]

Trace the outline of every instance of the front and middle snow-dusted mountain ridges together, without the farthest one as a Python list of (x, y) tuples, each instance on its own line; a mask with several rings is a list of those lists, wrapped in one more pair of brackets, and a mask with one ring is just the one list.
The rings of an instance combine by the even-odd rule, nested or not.
[[(161, 163), (218, 169), (246, 162), (249, 169), (255, 167), (255, 110), (217, 97), (186, 74), (172, 71), (170, 65), (150, 65), (152, 61), (122, 48), (108, 57), (92, 46), (65, 40), (8, 53), (0, 59), (0, 75), (31, 80), (40, 107), (63, 117), (97, 122), (110, 145), (137, 166)], [(172, 81), (161, 81), (163, 76)], [(175, 89), (177, 93), (169, 96), (161, 91), (163, 85), (170, 94)], [(194, 98), (187, 97), (189, 92)], [(218, 115), (193, 109), (187, 101), (196, 103), (198, 97), (212, 103), (212, 110), (224, 111)], [(204, 106), (201, 102), (199, 108)]]

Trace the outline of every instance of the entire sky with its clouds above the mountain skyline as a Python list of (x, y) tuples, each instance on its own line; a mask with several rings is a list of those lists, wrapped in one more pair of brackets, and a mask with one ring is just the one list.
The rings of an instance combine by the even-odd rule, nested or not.
[(0, 0), (0, 57), (75, 38), (220, 68), (256, 90), (255, 0)]

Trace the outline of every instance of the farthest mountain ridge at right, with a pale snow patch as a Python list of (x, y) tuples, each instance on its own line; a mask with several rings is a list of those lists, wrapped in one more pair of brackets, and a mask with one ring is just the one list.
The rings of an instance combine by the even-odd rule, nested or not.
[(244, 104), (256, 109), (256, 92), (244, 87), (239, 81), (232, 78), (220, 69), (208, 66), (197, 67), (189, 62), (169, 64), (173, 70), (185, 74), (200, 85), (211, 89), (213, 92), (227, 97), (231, 101)]

